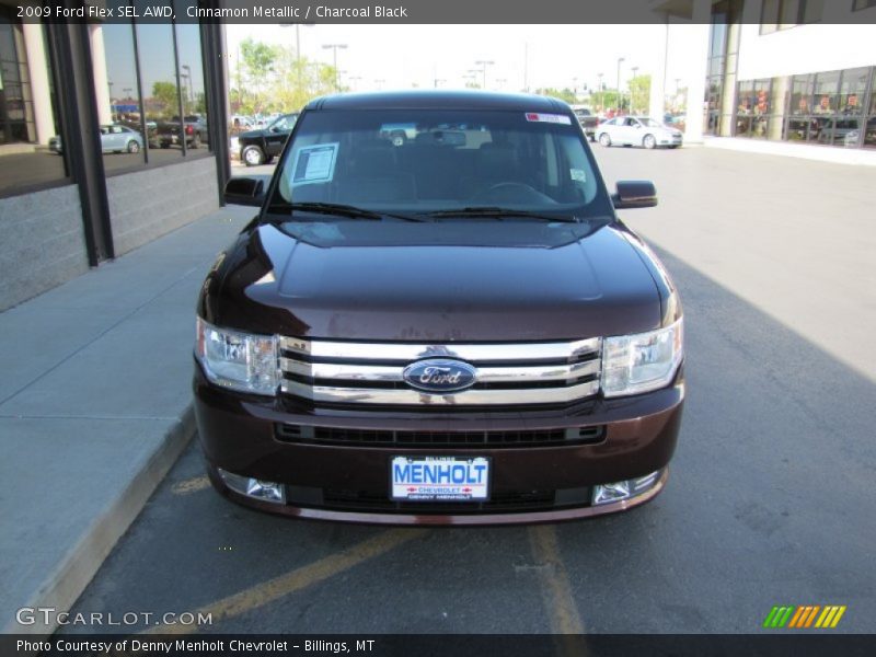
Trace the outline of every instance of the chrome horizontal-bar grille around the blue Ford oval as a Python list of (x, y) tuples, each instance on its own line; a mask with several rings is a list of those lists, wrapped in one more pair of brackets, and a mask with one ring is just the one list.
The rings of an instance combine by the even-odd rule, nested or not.
[[(314, 404), (508, 406), (567, 404), (599, 391), (601, 338), (560, 343), (410, 344), (280, 338), (281, 391)], [(459, 392), (424, 392), (403, 377), (413, 362), (476, 368)]]

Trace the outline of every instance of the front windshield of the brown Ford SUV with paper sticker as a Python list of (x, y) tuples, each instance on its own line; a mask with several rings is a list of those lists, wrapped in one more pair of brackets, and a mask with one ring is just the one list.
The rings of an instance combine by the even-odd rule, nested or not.
[(307, 112), (267, 210), (332, 204), (436, 220), (518, 210), (529, 212), (514, 216), (521, 221), (607, 222), (611, 205), (574, 123), (522, 111)]

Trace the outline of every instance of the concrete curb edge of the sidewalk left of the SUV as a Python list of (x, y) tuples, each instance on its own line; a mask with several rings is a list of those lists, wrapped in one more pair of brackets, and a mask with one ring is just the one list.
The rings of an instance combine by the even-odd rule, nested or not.
[[(189, 403), (182, 416), (164, 435), (164, 440), (146, 461), (143, 468), (116, 499), (97, 517), (60, 564), (46, 577), (37, 592), (23, 607), (48, 607), (69, 610), (85, 590), (94, 574), (128, 530), (146, 503), (195, 436), (195, 413)], [(36, 619), (41, 616), (37, 615)], [(14, 615), (3, 629), (7, 634), (48, 637), (58, 629), (57, 614), (51, 623), (39, 620), (33, 625), (19, 625)]]

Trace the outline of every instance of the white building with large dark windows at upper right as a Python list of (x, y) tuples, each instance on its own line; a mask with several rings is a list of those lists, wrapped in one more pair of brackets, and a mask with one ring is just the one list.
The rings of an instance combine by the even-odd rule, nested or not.
[[(681, 81), (688, 141), (876, 149), (876, 0), (654, 0), (649, 7), (667, 20), (665, 47), (675, 25), (690, 23), (684, 28), (696, 32), (684, 56), (698, 67)], [(660, 55), (658, 62), (666, 60)], [(664, 84), (652, 89), (657, 116), (665, 78), (658, 70)], [(869, 152), (861, 157), (873, 160)]]

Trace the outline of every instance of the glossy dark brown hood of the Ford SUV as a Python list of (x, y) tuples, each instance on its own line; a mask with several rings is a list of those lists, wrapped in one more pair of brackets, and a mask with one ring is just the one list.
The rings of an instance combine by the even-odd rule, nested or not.
[[(200, 312), (257, 333), (434, 343), (578, 339), (660, 326), (657, 286), (622, 224), (584, 237), (554, 227), (545, 239), (539, 223), (488, 223), (471, 231), (319, 223), (324, 231), (315, 238), (258, 226), (215, 267)], [(370, 237), (339, 238), (339, 226)]]

